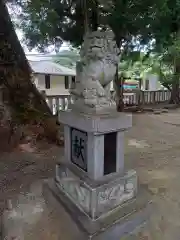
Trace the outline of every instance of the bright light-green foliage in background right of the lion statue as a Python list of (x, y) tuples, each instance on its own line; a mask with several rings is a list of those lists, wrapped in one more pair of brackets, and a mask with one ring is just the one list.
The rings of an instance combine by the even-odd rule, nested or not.
[[(159, 75), (159, 81), (167, 89), (173, 85), (172, 58), (164, 54), (145, 54), (141, 51), (129, 52), (119, 63), (119, 72), (129, 78), (143, 78), (145, 73)], [(167, 61), (168, 60), (168, 61)], [(169, 62), (171, 60), (171, 62)]]

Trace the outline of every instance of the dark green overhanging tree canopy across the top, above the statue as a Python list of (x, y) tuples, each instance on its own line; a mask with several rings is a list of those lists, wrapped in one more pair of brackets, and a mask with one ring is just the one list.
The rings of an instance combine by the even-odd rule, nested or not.
[[(17, 15), (26, 44), (43, 51), (62, 40), (75, 46), (82, 43), (85, 28), (107, 28), (123, 49), (152, 45), (158, 52), (177, 39), (180, 20), (179, 0), (9, 0), (21, 6)], [(86, 19), (87, 18), (87, 19)], [(148, 46), (150, 47), (150, 46)]]

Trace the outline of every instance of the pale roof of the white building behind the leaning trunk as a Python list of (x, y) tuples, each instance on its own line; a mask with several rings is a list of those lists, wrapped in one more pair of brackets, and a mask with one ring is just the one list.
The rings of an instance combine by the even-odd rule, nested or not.
[(76, 71), (67, 67), (61, 66), (52, 61), (31, 61), (29, 60), (31, 69), (34, 73), (51, 74), (61, 76), (75, 76)]

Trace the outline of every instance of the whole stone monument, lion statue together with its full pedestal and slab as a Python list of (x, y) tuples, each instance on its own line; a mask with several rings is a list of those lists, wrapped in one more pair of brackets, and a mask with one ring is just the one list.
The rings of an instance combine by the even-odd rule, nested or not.
[[(85, 46), (95, 51), (95, 40), (100, 44), (103, 39), (105, 44), (107, 38), (105, 46), (109, 44), (108, 49), (114, 51), (108, 34), (92, 33), (86, 37)], [(82, 59), (83, 51), (87, 55), (82, 49)], [(136, 171), (124, 170), (124, 132), (132, 126), (132, 116), (116, 112), (105, 88), (105, 83), (113, 79), (113, 64), (118, 59), (109, 62), (108, 58), (103, 66), (99, 58), (94, 64), (94, 59), (92, 64), (88, 61), (88, 65), (77, 65), (76, 89), (72, 92), (75, 102), (69, 110), (59, 112), (59, 122), (64, 125), (64, 160), (57, 164), (55, 180), (48, 186), (77, 224), (77, 238), (119, 240), (128, 238), (129, 233), (146, 222), (149, 196), (138, 190)], [(96, 66), (99, 68), (93, 72)], [(105, 77), (102, 82), (97, 81), (103, 69)]]

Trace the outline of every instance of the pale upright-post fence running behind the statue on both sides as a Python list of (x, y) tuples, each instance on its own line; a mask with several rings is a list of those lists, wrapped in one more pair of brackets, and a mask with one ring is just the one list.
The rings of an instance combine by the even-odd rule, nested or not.
[[(124, 103), (131, 106), (158, 104), (169, 101), (170, 97), (171, 93), (166, 90), (125, 92)], [(72, 103), (73, 99), (70, 95), (53, 95), (46, 96), (46, 101), (53, 114), (56, 114), (58, 110), (68, 109), (69, 103)]]

